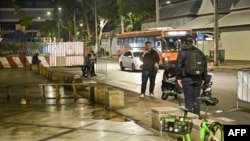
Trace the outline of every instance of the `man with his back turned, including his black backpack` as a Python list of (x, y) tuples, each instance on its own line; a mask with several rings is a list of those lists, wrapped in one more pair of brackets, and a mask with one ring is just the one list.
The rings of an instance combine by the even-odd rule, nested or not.
[[(198, 56), (195, 59), (190, 57), (193, 50), (198, 54), (192, 54)], [(196, 66), (199, 67), (196, 68)], [(185, 40), (185, 44), (177, 57), (176, 69), (177, 82), (184, 92), (185, 108), (200, 116), (200, 101), (197, 98), (200, 96), (201, 86), (207, 73), (207, 62), (204, 53), (193, 46), (192, 38)]]

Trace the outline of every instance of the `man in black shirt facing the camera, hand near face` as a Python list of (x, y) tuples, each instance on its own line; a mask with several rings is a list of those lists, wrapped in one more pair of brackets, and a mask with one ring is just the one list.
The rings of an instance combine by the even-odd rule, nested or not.
[(159, 68), (159, 55), (152, 48), (151, 42), (145, 43), (145, 50), (142, 54), (143, 67), (142, 67), (142, 84), (141, 84), (141, 98), (145, 96), (148, 78), (149, 84), (149, 96), (154, 95), (155, 78)]

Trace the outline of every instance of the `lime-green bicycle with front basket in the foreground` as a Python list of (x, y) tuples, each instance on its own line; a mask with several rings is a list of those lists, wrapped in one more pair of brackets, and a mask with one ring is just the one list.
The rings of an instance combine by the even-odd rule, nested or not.
[[(224, 131), (223, 124), (220, 122), (212, 122), (211, 124), (207, 121), (207, 110), (208, 106), (214, 106), (218, 103), (218, 99), (211, 96), (202, 96), (198, 98), (203, 101), (206, 105), (205, 117), (202, 118), (200, 125), (200, 141), (224, 141)], [(180, 108), (184, 111), (184, 116), (170, 116), (162, 117), (160, 119), (161, 132), (169, 132), (174, 134), (181, 134), (182, 138), (179, 140), (191, 141), (191, 130), (193, 126), (193, 121), (191, 118), (187, 117), (187, 113), (190, 110), (183, 107)]]

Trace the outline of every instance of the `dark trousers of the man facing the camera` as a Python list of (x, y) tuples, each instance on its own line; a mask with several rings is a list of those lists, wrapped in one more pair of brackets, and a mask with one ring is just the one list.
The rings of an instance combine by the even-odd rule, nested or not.
[(141, 84), (141, 94), (145, 94), (147, 88), (147, 82), (149, 79), (149, 93), (154, 92), (155, 78), (158, 72), (157, 68), (153, 68), (151, 71), (142, 70), (142, 84)]

